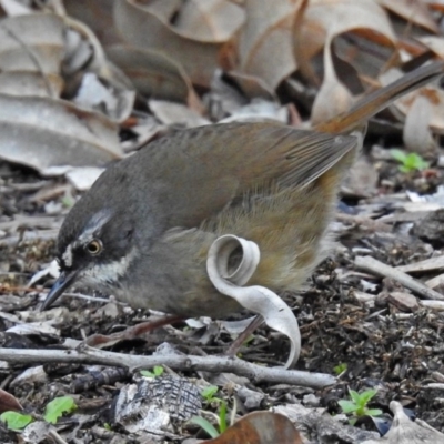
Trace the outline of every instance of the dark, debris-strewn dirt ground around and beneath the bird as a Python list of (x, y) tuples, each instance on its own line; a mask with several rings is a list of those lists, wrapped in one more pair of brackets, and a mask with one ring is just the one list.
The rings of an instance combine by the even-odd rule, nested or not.
[[(443, 182), (442, 169), (402, 174), (391, 161), (382, 162), (379, 174), (377, 199), (354, 199), (353, 205), (345, 206), (346, 211), (350, 210), (356, 215), (370, 211), (369, 208), (373, 204), (374, 213), (370, 218), (372, 220), (382, 215), (398, 214), (400, 210), (393, 205), (393, 195), (405, 190), (417, 190), (421, 194), (433, 193), (436, 185)], [(386, 183), (381, 185), (384, 180), (390, 180), (389, 186)], [(65, 193), (51, 195), (51, 190), (60, 185), (64, 185), (63, 180), (42, 181), (32, 171), (1, 164), (0, 230), (2, 223), (18, 215), (44, 215), (49, 202), (59, 205), (50, 223), (57, 229), (68, 211), (61, 203)], [(284, 295), (284, 299), (294, 306), (301, 326), (303, 351), (297, 369), (334, 374), (335, 367), (345, 364), (343, 369), (346, 370), (335, 385), (324, 390), (283, 389), (282, 385), (264, 383), (258, 387), (250, 386), (265, 395), (261, 408), (287, 403), (290, 393), (297, 400), (314, 393), (320, 400), (320, 405), (327, 407), (331, 414), (336, 414), (340, 412), (337, 401), (347, 397), (347, 387), (359, 392), (377, 389), (377, 394), (371, 403), (372, 407), (390, 413), (389, 404), (396, 400), (413, 411), (416, 417), (444, 432), (444, 389), (430, 386), (431, 383), (442, 383), (441, 377), (444, 379), (444, 314), (421, 306), (412, 310), (395, 304), (390, 297), (393, 292), (410, 292), (393, 281), (363, 273), (354, 266), (356, 255), (372, 255), (386, 264), (397, 266), (442, 254), (440, 249), (443, 248), (443, 238), (430, 233), (443, 229), (443, 218), (434, 212), (430, 216), (433, 229), (425, 231), (425, 234), (423, 218), (417, 222), (384, 224), (389, 231), (379, 230), (377, 224), (366, 226), (341, 222), (336, 228), (339, 246), (333, 258), (317, 269), (304, 291), (297, 295)], [(28, 287), (29, 279), (54, 256), (53, 238), (44, 241), (37, 239), (11, 242), (13, 236), (26, 239), (27, 233), (40, 230), (39, 225), (31, 225), (32, 223), (28, 223), (28, 226), (9, 226), (3, 230), (3, 238), (0, 239), (0, 311), (2, 314), (17, 315), (24, 322), (24, 313), (32, 313), (39, 306), (52, 282), (51, 278), (46, 278)], [(366, 293), (371, 302), (360, 301), (356, 292)], [(64, 339), (82, 340), (93, 333), (109, 334), (137, 324), (148, 316), (148, 313), (134, 312), (113, 303), (109, 305), (109, 312), (103, 311), (104, 304), (98, 302), (64, 297), (62, 303), (69, 310), (52, 325), (59, 329), (60, 336), (54, 333), (7, 332), (16, 323), (3, 315), (0, 317), (1, 346), (57, 349)], [(148, 341), (127, 341), (111, 350), (150, 354), (159, 343), (167, 341), (184, 353), (222, 353), (233, 339), (223, 329), (214, 325), (211, 327), (211, 334), (206, 334), (205, 329), (190, 330), (184, 323), (180, 323), (174, 327), (161, 329)], [(202, 343), (203, 334), (206, 334), (206, 339)], [(256, 331), (254, 339), (240, 350), (242, 359), (268, 365), (282, 364), (287, 352), (286, 340), (266, 327)], [(44, 365), (43, 377), (36, 381), (27, 379), (26, 383), (11, 384), (31, 366), (1, 366), (1, 389), (11, 393), (27, 411), (37, 415), (42, 414), (44, 405), (53, 397), (75, 392), (77, 414), (84, 415), (82, 424), (88, 424), (88, 427), (77, 430), (75, 422), (64, 421), (62, 428), (70, 432), (69, 442), (75, 442), (74, 436), (79, 440), (77, 442), (84, 443), (138, 442), (128, 431), (117, 425), (112, 430), (103, 428), (104, 423), (113, 425), (113, 398), (119, 390), (131, 381), (131, 374), (124, 370), (101, 366)], [(198, 376), (195, 372), (181, 374), (185, 377)], [(220, 393), (226, 396), (229, 405), (233, 405), (233, 397), (226, 386), (221, 387)], [(242, 407), (242, 403), (238, 406), (239, 413), (248, 411), (246, 407)], [(365, 422), (361, 426), (372, 428), (373, 425)], [(100, 438), (99, 428), (94, 427), (102, 427)], [(194, 435), (195, 428), (185, 427), (175, 432), (181, 436)], [(17, 435), (4, 427), (0, 430), (1, 433), (1, 442), (19, 442)], [(118, 436), (122, 441), (119, 441)], [(165, 440), (174, 441), (174, 437)]]

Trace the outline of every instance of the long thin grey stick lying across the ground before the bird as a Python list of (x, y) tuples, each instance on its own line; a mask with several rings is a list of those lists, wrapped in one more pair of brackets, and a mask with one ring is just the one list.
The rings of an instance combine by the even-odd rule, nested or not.
[(79, 364), (110, 365), (138, 369), (151, 369), (154, 365), (167, 365), (173, 370), (206, 371), (213, 373), (231, 372), (246, 376), (252, 382), (272, 382), (294, 384), (305, 387), (322, 389), (332, 385), (336, 379), (325, 373), (309, 373), (283, 367), (264, 367), (239, 360), (238, 357), (164, 355), (141, 356), (82, 346), (82, 350), (27, 350), (0, 349), (0, 361), (19, 364), (43, 364), (64, 362)]

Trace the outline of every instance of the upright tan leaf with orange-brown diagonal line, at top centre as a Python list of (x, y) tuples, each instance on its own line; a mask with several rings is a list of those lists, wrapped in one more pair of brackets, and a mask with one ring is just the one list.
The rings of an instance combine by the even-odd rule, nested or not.
[(239, 38), (240, 71), (262, 79), (271, 90), (296, 69), (292, 29), (301, 4), (302, 0), (245, 1), (246, 22)]

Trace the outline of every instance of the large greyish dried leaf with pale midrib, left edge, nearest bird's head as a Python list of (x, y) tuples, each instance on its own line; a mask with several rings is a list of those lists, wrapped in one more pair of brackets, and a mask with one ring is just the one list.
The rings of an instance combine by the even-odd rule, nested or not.
[(48, 98), (0, 95), (0, 158), (40, 172), (120, 159), (118, 127), (104, 115)]

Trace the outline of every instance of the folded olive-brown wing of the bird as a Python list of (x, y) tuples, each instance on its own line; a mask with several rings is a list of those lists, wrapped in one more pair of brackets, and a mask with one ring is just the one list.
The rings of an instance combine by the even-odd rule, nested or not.
[(127, 161), (147, 178), (139, 192), (155, 196), (169, 226), (196, 226), (256, 188), (313, 182), (361, 142), (279, 123), (229, 123), (178, 131)]

